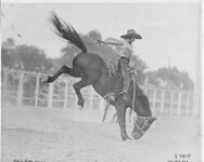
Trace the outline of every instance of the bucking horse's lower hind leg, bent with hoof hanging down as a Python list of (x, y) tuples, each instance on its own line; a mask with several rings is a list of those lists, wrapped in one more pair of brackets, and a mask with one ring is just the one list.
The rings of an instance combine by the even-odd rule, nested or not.
[(74, 90), (78, 96), (78, 106), (80, 106), (80, 108), (84, 108), (84, 104), (85, 104), (85, 99), (82, 98), (80, 89), (85, 87), (87, 85), (90, 85), (90, 84), (91, 84), (91, 80), (82, 78), (79, 82), (77, 82), (73, 85)]

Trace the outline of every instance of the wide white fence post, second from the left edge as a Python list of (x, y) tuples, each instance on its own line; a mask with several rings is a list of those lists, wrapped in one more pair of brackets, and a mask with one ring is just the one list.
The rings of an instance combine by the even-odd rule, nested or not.
[(18, 78), (18, 87), (17, 87), (17, 105), (22, 104), (23, 89), (24, 89), (24, 72), (21, 71), (20, 78)]

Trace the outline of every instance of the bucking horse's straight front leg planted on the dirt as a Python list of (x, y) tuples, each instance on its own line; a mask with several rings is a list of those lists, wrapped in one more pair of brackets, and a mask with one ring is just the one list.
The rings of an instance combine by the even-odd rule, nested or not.
[(131, 139), (126, 132), (126, 108), (124, 104), (119, 100), (119, 104), (116, 105), (117, 119), (120, 127), (122, 139)]

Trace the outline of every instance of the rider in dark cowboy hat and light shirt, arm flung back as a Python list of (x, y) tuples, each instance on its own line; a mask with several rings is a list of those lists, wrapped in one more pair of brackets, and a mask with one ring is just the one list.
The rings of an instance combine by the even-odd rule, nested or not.
[(129, 87), (129, 83), (131, 81), (131, 77), (129, 75), (129, 60), (132, 56), (132, 42), (135, 39), (142, 39), (142, 37), (133, 29), (127, 30), (126, 35), (120, 36), (120, 38), (107, 38), (104, 41), (98, 40), (100, 43), (114, 45), (118, 49), (118, 70), (123, 76), (123, 98), (127, 99), (127, 91)]

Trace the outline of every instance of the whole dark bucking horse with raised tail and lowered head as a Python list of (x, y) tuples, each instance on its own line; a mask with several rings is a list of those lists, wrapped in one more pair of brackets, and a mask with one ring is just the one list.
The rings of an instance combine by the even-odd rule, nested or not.
[[(118, 90), (122, 90), (123, 78), (115, 75), (110, 75), (110, 69), (107, 68), (106, 63), (98, 54), (87, 51), (87, 48), (81, 41), (79, 35), (71, 24), (66, 24), (65, 22), (61, 21), (55, 13), (52, 14), (50, 21), (58, 36), (69, 41), (69, 43), (75, 44), (82, 52), (78, 53), (74, 57), (73, 68), (63, 65), (62, 68), (54, 76), (48, 77), (44, 82), (53, 82), (62, 73), (67, 73), (72, 77), (81, 78), (79, 82), (73, 85), (78, 96), (78, 105), (81, 108), (84, 107), (85, 103), (80, 93), (81, 87), (92, 84), (95, 92), (102, 97), (106, 96), (109, 93), (114, 93), (118, 92)], [(135, 95), (133, 86), (136, 87)], [(155, 118), (152, 118), (148, 97), (142, 93), (142, 91), (136, 83), (133, 85), (133, 82), (131, 82), (129, 85), (127, 100), (123, 99), (122, 94), (115, 94), (115, 99), (111, 100), (111, 104), (115, 106), (117, 111), (118, 123), (120, 126), (120, 135), (123, 140), (130, 139), (126, 132), (125, 119), (126, 109), (128, 107), (132, 108), (138, 116), (131, 135), (135, 139), (140, 138), (155, 120)], [(133, 96), (135, 106), (132, 107)]]

